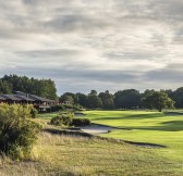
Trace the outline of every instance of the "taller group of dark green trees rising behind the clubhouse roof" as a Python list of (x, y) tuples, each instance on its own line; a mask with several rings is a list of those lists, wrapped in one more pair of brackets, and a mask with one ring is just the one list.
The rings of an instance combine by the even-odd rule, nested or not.
[(4, 75), (0, 78), (1, 95), (9, 95), (14, 91), (23, 91), (52, 100), (58, 98), (56, 84), (51, 79), (36, 79), (17, 75)]

